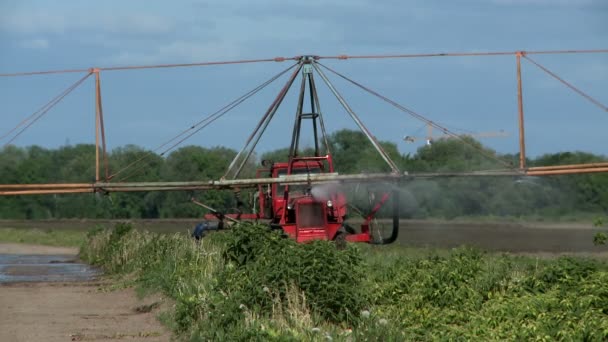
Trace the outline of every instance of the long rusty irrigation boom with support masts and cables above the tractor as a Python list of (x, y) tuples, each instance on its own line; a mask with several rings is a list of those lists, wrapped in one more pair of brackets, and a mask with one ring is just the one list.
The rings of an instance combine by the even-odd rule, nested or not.
[[(566, 80), (557, 76), (554, 72), (542, 66), (540, 63), (532, 60), (529, 55), (532, 54), (570, 54), (570, 53), (608, 53), (608, 49), (603, 50), (563, 50), (563, 51), (502, 51), (502, 52), (475, 52), (475, 53), (436, 53), (436, 54), (407, 54), (407, 55), (381, 55), (381, 56), (296, 56), (293, 58), (267, 58), (267, 59), (251, 59), (251, 60), (240, 60), (240, 61), (219, 61), (219, 62), (202, 62), (202, 63), (191, 63), (191, 64), (166, 64), (166, 65), (150, 65), (150, 66), (126, 66), (126, 67), (108, 67), (108, 68), (91, 68), (91, 69), (73, 69), (73, 70), (54, 70), (54, 71), (42, 71), (42, 72), (25, 72), (25, 73), (5, 73), (0, 74), (0, 77), (15, 77), (15, 76), (29, 76), (29, 75), (46, 75), (46, 74), (54, 74), (54, 73), (72, 73), (72, 72), (86, 72), (87, 74), (66, 89), (64, 92), (59, 94), (56, 98), (51, 100), (45, 106), (43, 106), (38, 111), (34, 112), (33, 115), (26, 118), (15, 128), (9, 130), (7, 134), (0, 136), (0, 140), (3, 138), (11, 137), (9, 142), (4, 146), (8, 146), (17, 136), (19, 136), (25, 129), (31, 126), (34, 122), (36, 122), (42, 115), (48, 112), (54, 105), (56, 105), (62, 98), (64, 98), (67, 94), (69, 94), (72, 90), (74, 90), (78, 85), (80, 85), (88, 76), (95, 75), (96, 79), (96, 175), (95, 182), (93, 183), (63, 183), (63, 184), (0, 184), (0, 196), (10, 196), (10, 195), (36, 195), (36, 194), (63, 194), (63, 193), (107, 193), (107, 192), (136, 192), (136, 191), (184, 191), (184, 190), (213, 190), (213, 189), (240, 189), (240, 188), (252, 188), (259, 185), (265, 184), (297, 184), (297, 183), (306, 183), (306, 184), (315, 184), (315, 183), (325, 183), (325, 182), (339, 182), (339, 183), (347, 183), (347, 182), (374, 182), (374, 181), (407, 181), (416, 178), (442, 178), (442, 177), (521, 177), (521, 176), (550, 176), (550, 175), (566, 175), (566, 174), (581, 174), (581, 173), (596, 173), (596, 172), (608, 172), (608, 162), (600, 162), (593, 164), (575, 164), (575, 165), (556, 165), (556, 166), (541, 166), (541, 167), (527, 167), (525, 165), (525, 142), (524, 142), (524, 122), (523, 122), (523, 103), (521, 96), (521, 70), (520, 70), (520, 59), (526, 59), (536, 67), (540, 68), (545, 73), (549, 74), (554, 79), (563, 83), (565, 86), (575, 91), (586, 100), (595, 104), (599, 108), (604, 111), (608, 111), (608, 106), (598, 102), (594, 98), (590, 97), (586, 93), (582, 92), (580, 89), (576, 88), (574, 85), (570, 84)], [(475, 172), (463, 172), (463, 173), (401, 173), (397, 167), (397, 165), (390, 159), (388, 154), (382, 149), (382, 146), (378, 143), (376, 138), (371, 135), (371, 133), (365, 128), (359, 117), (355, 114), (352, 108), (346, 103), (345, 99), (340, 95), (340, 93), (335, 89), (331, 81), (327, 78), (323, 70), (319, 68), (319, 66), (323, 67), (326, 70), (329, 70), (331, 73), (343, 78), (347, 82), (361, 88), (362, 90), (378, 97), (379, 99), (387, 102), (388, 104), (394, 106), (395, 108), (408, 113), (409, 115), (426, 122), (429, 127), (435, 127), (438, 129), (442, 129), (444, 133), (449, 133), (450, 136), (458, 137), (459, 135), (452, 134), (445, 127), (438, 125), (437, 123), (429, 120), (428, 118), (414, 112), (399, 103), (382, 96), (381, 94), (373, 91), (372, 89), (363, 86), (362, 84), (349, 79), (345, 75), (342, 75), (335, 70), (328, 68), (320, 63), (318, 60), (320, 59), (338, 59), (338, 60), (346, 60), (346, 59), (377, 59), (377, 58), (417, 58), (417, 57), (440, 57), (440, 56), (499, 56), (499, 55), (514, 55), (516, 57), (517, 62), (517, 77), (518, 77), (518, 105), (519, 105), (519, 125), (520, 125), (520, 163), (519, 168), (514, 168), (510, 163), (506, 161), (502, 161), (506, 167), (503, 170), (492, 170), (492, 171), (475, 171)], [(291, 77), (275, 99), (275, 101), (270, 105), (264, 116), (261, 118), (260, 123), (256, 127), (256, 130), (252, 133), (252, 135), (247, 140), (246, 146), (237, 154), (237, 158), (233, 160), (230, 167), (228, 168), (228, 172), (226, 175), (216, 181), (193, 181), (193, 182), (124, 182), (127, 177), (123, 177), (121, 180), (114, 182), (112, 179), (118, 173), (121, 173), (127, 168), (132, 167), (135, 164), (141, 163), (143, 161), (143, 157), (139, 158), (135, 162), (130, 163), (127, 167), (121, 169), (113, 175), (109, 175), (108, 173), (108, 161), (106, 156), (106, 148), (105, 148), (105, 134), (104, 134), (104, 124), (103, 124), (103, 114), (102, 114), (102, 106), (101, 106), (101, 90), (100, 90), (100, 81), (99, 81), (99, 73), (100, 71), (115, 71), (115, 70), (133, 70), (133, 69), (150, 69), (150, 68), (174, 68), (174, 67), (193, 67), (193, 66), (210, 66), (210, 65), (223, 65), (223, 64), (243, 64), (243, 63), (258, 63), (258, 62), (283, 62), (283, 61), (296, 61), (294, 66), (297, 66), (296, 70), (293, 71)], [(291, 70), (294, 66), (287, 68), (281, 73), (277, 74), (267, 82), (261, 84), (260, 86), (254, 88), (252, 91), (246, 93), (242, 97), (239, 97), (235, 101), (231, 102), (226, 107), (222, 108), (220, 111), (210, 115), (208, 118), (205, 118), (198, 122), (196, 125), (192, 126), (188, 130), (180, 133), (178, 137), (181, 137), (184, 133), (188, 133), (190, 129), (194, 129), (197, 126), (201, 126), (197, 128), (196, 131), (188, 133), (186, 138), (192, 136), (194, 133), (198, 132), (200, 129), (206, 127), (209, 123), (216, 120), (219, 116), (224, 115), (230, 109), (234, 108), (236, 105), (242, 103), (244, 100), (264, 88), (270, 82), (277, 79), (279, 76), (283, 75), (287, 71)], [(314, 80), (312, 78), (312, 73), (310, 71), (316, 71), (321, 77), (322, 81), (328, 86), (340, 104), (344, 107), (346, 112), (351, 116), (351, 118), (355, 121), (357, 126), (361, 129), (361, 131), (366, 135), (369, 142), (373, 145), (376, 151), (381, 155), (384, 161), (391, 168), (392, 173), (375, 173), (375, 174), (351, 174), (351, 175), (338, 175), (334, 173), (330, 174), (314, 174), (314, 175), (291, 175), (287, 177), (281, 177), (280, 179), (273, 178), (253, 178), (253, 179), (236, 179), (240, 174), (240, 171), (244, 167), (244, 165), (249, 160), (249, 157), (253, 153), (257, 142), (259, 141), (261, 135), (264, 133), (266, 126), (269, 121), (274, 116), (277, 111), (279, 105), (281, 104), (283, 98), (285, 97), (289, 87), (293, 83), (296, 75), (306, 66), (307, 70), (306, 74), (309, 77), (309, 85), (310, 85), (310, 93), (311, 93), (311, 112), (312, 114), (302, 113), (302, 110), (298, 111), (298, 118), (304, 118), (306, 115), (312, 115), (313, 119), (316, 118), (315, 115), (318, 116), (320, 121), (320, 127), (323, 132), (323, 140), (326, 145), (327, 155), (329, 155), (329, 148), (326, 139), (326, 132), (323, 121), (320, 116), (320, 108), (319, 101), (317, 99), (316, 90), (314, 89)], [(305, 82), (302, 83), (304, 85)], [(303, 92), (302, 88), (302, 92)], [(300, 101), (301, 102), (301, 101)], [(207, 121), (208, 120), (208, 121)], [(202, 125), (204, 123), (204, 125)], [(298, 124), (299, 125), (299, 124)], [(25, 126), (20, 128), (21, 126)], [(299, 126), (296, 126), (298, 128)], [(298, 132), (298, 130), (294, 130), (294, 132)], [(430, 136), (430, 134), (429, 134)], [(178, 138), (176, 137), (176, 138)], [(99, 138), (101, 138), (101, 145), (99, 142)], [(170, 140), (172, 142), (174, 139)], [(181, 138), (177, 143), (171, 145), (169, 149), (174, 148), (181, 142), (183, 142), (186, 138)], [(292, 139), (292, 155), (290, 156), (290, 161), (295, 160), (298, 149), (298, 135), (294, 136)], [(169, 143), (168, 142), (168, 143)], [(159, 148), (162, 148), (167, 143), (161, 145)], [(161, 155), (166, 153), (169, 149), (165, 150)], [(100, 151), (103, 153), (103, 163), (105, 164), (105, 175), (102, 177), (100, 175)], [(486, 157), (490, 157), (492, 159), (497, 160), (495, 156), (492, 156), (488, 153), (484, 153), (481, 149), (479, 152), (486, 155)], [(245, 154), (244, 154), (245, 153)], [(317, 138), (316, 138), (316, 126), (315, 126), (315, 155), (319, 154), (319, 149), (317, 146)], [(240, 160), (239, 157), (242, 157)], [(238, 166), (238, 167), (237, 167)], [(236, 167), (236, 169), (233, 169)], [(141, 168), (141, 166), (140, 166)], [(136, 170), (137, 171), (137, 170)], [(331, 171), (330, 171), (331, 172)], [(230, 173), (230, 174), (229, 174)], [(226, 178), (233, 179), (226, 179)]]

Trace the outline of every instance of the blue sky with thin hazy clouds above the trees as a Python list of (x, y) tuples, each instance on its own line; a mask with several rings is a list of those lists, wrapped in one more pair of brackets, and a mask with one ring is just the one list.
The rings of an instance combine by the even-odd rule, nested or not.
[[(608, 1), (0, 1), (0, 74), (277, 56), (570, 49), (608, 49)], [(608, 54), (530, 57), (608, 105)], [(481, 141), (501, 153), (518, 151), (514, 56), (321, 62), (456, 133), (505, 132)], [(291, 64), (102, 71), (108, 146), (154, 149)], [(522, 72), (529, 156), (608, 155), (606, 111), (530, 62), (522, 62)], [(0, 77), (0, 137), (83, 76)], [(424, 138), (423, 122), (328, 76), (377, 138), (403, 153), (424, 144), (403, 141)], [(356, 129), (316, 79), (328, 130)], [(286, 76), (278, 79), (184, 144), (240, 149), (285, 82)], [(257, 151), (289, 144), (297, 88)], [(94, 115), (90, 77), (13, 143), (94, 143)]]

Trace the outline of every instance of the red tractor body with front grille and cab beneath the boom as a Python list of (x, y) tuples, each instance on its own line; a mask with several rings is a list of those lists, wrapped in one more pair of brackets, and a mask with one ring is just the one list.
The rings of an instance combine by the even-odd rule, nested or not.
[[(291, 163), (264, 161), (266, 168), (258, 169), (256, 178), (281, 178), (288, 175), (334, 173), (331, 155), (322, 157), (298, 157)], [(281, 184), (258, 185), (253, 213), (206, 214), (205, 219), (229, 218), (232, 220), (263, 220), (274, 229), (283, 230), (297, 242), (311, 240), (336, 240), (343, 237), (350, 242), (373, 241), (370, 222), (378, 210), (390, 198), (384, 193), (374, 208), (364, 217), (358, 231), (346, 224), (348, 203), (337, 184)], [(398, 227), (394, 224), (395, 229)], [(396, 232), (394, 232), (396, 234)], [(395, 236), (396, 237), (396, 236)], [(390, 243), (380, 241), (380, 243)], [(394, 239), (393, 239), (394, 240)]]

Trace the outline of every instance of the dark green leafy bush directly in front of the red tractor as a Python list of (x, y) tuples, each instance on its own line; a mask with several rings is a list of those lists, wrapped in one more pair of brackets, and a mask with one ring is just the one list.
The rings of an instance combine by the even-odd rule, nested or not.
[(352, 246), (297, 244), (267, 226), (243, 223), (228, 234), (223, 257), (214, 304), (214, 324), (220, 326), (241, 320), (243, 306), (269, 316), (277, 303), (292, 300), (291, 286), (322, 320), (353, 323), (365, 304), (362, 259)]

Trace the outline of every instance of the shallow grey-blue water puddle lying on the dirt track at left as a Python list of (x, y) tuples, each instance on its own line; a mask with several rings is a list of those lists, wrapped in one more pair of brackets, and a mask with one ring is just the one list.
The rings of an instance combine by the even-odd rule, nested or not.
[(0, 283), (88, 281), (99, 274), (74, 255), (0, 254)]

